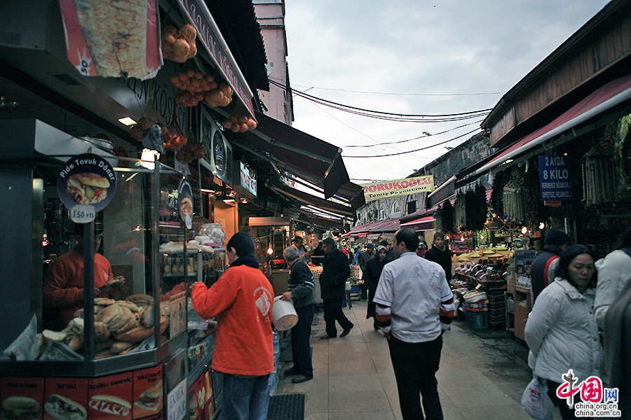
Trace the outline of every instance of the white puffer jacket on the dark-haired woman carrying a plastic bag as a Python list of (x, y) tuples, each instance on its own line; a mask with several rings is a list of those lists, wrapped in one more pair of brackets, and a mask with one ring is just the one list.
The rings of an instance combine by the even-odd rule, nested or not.
[(543, 289), (528, 316), (528, 365), (537, 377), (562, 382), (574, 370), (579, 381), (600, 375), (602, 347), (593, 315), (595, 289), (581, 295), (569, 281), (557, 277)]

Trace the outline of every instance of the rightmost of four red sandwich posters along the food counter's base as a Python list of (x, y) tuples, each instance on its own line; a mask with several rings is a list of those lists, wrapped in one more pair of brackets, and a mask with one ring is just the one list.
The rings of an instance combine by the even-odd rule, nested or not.
[(162, 419), (163, 393), (162, 365), (135, 370), (132, 419)]

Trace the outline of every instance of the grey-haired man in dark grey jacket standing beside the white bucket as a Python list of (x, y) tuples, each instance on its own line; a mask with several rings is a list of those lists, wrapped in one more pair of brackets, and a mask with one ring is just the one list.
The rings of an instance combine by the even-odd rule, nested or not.
[(291, 274), (289, 291), (280, 297), (287, 302), (293, 301), (298, 315), (298, 323), (292, 328), (292, 356), (293, 367), (285, 370), (287, 375), (296, 375), (292, 379), (294, 384), (313, 379), (313, 365), (311, 363), (311, 321), (315, 313), (315, 286), (313, 274), (306, 262), (300, 259), (300, 251), (295, 246), (289, 246), (283, 251), (287, 267)]

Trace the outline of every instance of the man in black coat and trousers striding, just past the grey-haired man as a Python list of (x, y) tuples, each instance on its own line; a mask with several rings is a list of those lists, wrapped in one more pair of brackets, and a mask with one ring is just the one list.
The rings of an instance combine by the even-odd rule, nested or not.
[(351, 275), (351, 267), (348, 265), (348, 258), (336, 246), (335, 241), (326, 238), (322, 241), (322, 248), (325, 251), (322, 274), (320, 274), (320, 295), (323, 300), (326, 335), (320, 338), (337, 337), (335, 321), (343, 329), (340, 337), (346, 337), (351, 328), (355, 325), (348, 321), (346, 315), (341, 310), (342, 300), (344, 300), (344, 287), (346, 279)]

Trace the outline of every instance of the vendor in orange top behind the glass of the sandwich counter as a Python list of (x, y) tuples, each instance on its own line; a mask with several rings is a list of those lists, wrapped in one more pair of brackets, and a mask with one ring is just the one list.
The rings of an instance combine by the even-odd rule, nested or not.
[[(74, 312), (83, 308), (83, 225), (75, 225), (76, 245), (60, 255), (48, 268), (43, 281), (44, 329), (60, 331), (74, 318)], [(94, 295), (115, 299), (125, 288), (125, 278), (111, 272), (107, 258), (97, 253), (103, 232), (94, 235)]]

